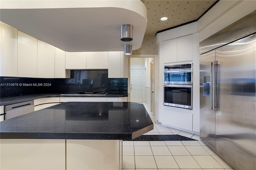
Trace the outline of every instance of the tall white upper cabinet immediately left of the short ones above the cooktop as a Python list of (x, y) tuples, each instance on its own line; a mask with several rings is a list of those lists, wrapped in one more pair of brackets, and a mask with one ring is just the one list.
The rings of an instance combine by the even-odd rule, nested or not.
[(70, 70), (66, 70), (66, 53), (55, 47), (55, 78), (70, 78)]

